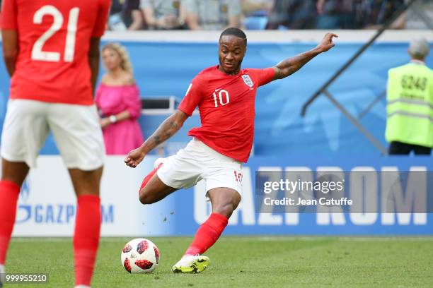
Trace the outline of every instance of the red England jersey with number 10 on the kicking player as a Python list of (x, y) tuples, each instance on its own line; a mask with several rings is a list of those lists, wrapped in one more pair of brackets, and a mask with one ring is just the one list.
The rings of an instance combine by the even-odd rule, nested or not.
[(179, 109), (191, 115), (199, 107), (202, 126), (189, 136), (201, 140), (222, 155), (247, 162), (253, 147), (255, 93), (272, 81), (273, 68), (246, 68), (236, 75), (204, 69), (192, 80)]

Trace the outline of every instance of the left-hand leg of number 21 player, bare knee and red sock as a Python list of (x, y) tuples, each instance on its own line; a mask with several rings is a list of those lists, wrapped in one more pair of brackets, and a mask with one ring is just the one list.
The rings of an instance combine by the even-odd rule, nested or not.
[(0, 287), (4, 282), (6, 253), (15, 224), (18, 195), (28, 174), (25, 162), (1, 160), (0, 181)]

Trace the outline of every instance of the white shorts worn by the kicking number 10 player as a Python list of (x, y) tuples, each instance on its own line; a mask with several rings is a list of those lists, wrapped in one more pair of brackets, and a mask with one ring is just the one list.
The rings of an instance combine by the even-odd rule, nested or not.
[(158, 169), (159, 179), (173, 188), (189, 188), (204, 179), (206, 191), (231, 188), (242, 196), (242, 163), (204, 145), (196, 138)]

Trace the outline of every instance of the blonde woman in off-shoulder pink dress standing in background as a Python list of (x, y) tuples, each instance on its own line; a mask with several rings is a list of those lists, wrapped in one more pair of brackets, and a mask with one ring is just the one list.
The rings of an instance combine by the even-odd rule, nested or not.
[(125, 47), (106, 44), (102, 60), (106, 73), (96, 90), (95, 102), (101, 116), (105, 149), (108, 155), (125, 155), (144, 141), (138, 122), (142, 111), (139, 89)]

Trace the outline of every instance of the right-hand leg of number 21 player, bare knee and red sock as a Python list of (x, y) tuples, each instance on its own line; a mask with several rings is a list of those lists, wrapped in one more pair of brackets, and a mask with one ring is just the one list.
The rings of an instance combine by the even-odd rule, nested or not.
[(99, 187), (103, 168), (83, 171), (69, 169), (77, 197), (74, 231), (76, 287), (90, 287), (100, 236)]

